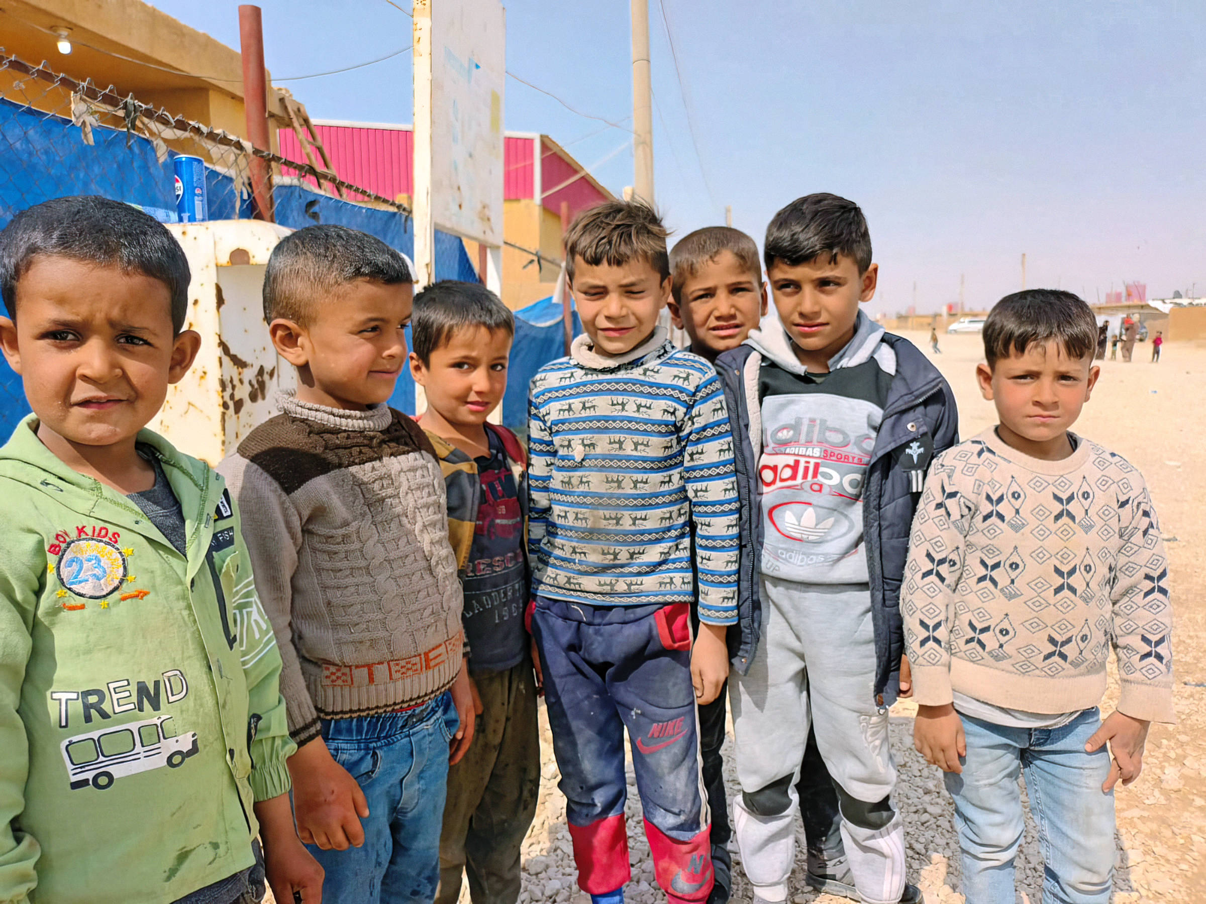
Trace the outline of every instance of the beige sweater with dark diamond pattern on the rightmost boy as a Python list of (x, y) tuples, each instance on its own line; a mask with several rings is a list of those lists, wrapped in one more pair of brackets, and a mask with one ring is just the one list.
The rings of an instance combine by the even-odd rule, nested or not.
[(913, 521), (901, 615), (918, 703), (953, 691), (1026, 712), (1172, 722), (1172, 607), (1142, 475), (1081, 439), (1047, 462), (991, 428), (943, 452)]

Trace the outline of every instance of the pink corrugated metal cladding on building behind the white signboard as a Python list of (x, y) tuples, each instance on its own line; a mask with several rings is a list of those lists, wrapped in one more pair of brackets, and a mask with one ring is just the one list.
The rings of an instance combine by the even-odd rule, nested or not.
[[(335, 175), (341, 180), (386, 198), (411, 194), (415, 158), (410, 127), (347, 123), (316, 124), (315, 128)], [(282, 157), (298, 162), (305, 159), (292, 130), (281, 129), (277, 136)], [(503, 196), (507, 200), (528, 199), (535, 192), (534, 143), (532, 137), (508, 135), (504, 139)], [(541, 147), (540, 183), (545, 207), (560, 213), (561, 202), (568, 201), (569, 216), (573, 217), (578, 211), (607, 199), (590, 180), (574, 178), (582, 172), (580, 165), (568, 163), (544, 142)], [(286, 175), (295, 174), (286, 170)], [(563, 184), (566, 182), (569, 183)], [(554, 188), (557, 190), (550, 192)]]

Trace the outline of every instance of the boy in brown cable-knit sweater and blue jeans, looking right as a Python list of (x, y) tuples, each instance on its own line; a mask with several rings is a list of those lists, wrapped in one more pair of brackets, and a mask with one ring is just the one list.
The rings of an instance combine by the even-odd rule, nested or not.
[(281, 239), (264, 319), (297, 391), (219, 465), (285, 659), (297, 827), (327, 904), (435, 898), (449, 762), (475, 728), (439, 459), (386, 404), (412, 282), (355, 229)]

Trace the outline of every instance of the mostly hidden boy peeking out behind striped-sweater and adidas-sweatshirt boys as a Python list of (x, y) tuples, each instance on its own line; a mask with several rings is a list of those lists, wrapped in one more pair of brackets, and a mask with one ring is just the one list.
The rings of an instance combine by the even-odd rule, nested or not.
[[(713, 364), (721, 352), (744, 342), (766, 315), (766, 283), (762, 282), (757, 245), (737, 229), (708, 227), (684, 236), (671, 251), (671, 276), (674, 280), (671, 321), (690, 336), (690, 351)], [(698, 617), (696, 601), (692, 621), (698, 623)], [(716, 871), (708, 904), (724, 904), (732, 888), (728, 853), (732, 828), (720, 756), (725, 742), (726, 704), (727, 692), (722, 689), (715, 700), (699, 706), (703, 785), (712, 810), (712, 865)], [(842, 844), (837, 792), (816, 747), (816, 734), (810, 729), (796, 791), (808, 846), (804, 881), (818, 891), (854, 898), (857, 892)]]

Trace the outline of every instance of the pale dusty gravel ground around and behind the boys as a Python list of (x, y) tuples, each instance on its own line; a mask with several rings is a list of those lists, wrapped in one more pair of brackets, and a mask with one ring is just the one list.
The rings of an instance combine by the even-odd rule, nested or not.
[[(909, 336), (929, 348), (927, 334)], [(959, 399), (961, 435), (972, 436), (995, 423), (991, 403), (984, 401), (973, 378), (982, 346), (977, 335), (941, 336), (943, 353), (935, 363)], [(1164, 360), (1148, 363), (1151, 346), (1136, 347), (1130, 364), (1101, 363), (1101, 381), (1084, 409), (1077, 430), (1102, 442), (1137, 465), (1152, 488), (1171, 559), (1175, 635), (1176, 704), (1179, 722), (1155, 726), (1147, 745), (1143, 775), (1129, 788), (1119, 787), (1118, 902), (1206, 902), (1206, 347), (1165, 345)], [(1199, 438), (1199, 439), (1194, 439)], [(1112, 687), (1103, 708), (1117, 699)], [(952, 808), (941, 774), (913, 751), (913, 718), (908, 704), (892, 710), (892, 746), (901, 768), (897, 805), (906, 820), (909, 879), (926, 891), (926, 900), (961, 902), (958, 843)], [(523, 849), (525, 886), (521, 904), (564, 903), (578, 897), (564, 798), (557, 791), (548, 728), (543, 735), (544, 777), (540, 808)], [(731, 741), (730, 741), (731, 746)], [(727, 750), (726, 750), (727, 753)], [(737, 792), (730, 770), (730, 794)], [(644, 844), (639, 804), (631, 787), (628, 838), (633, 904), (663, 900), (652, 880)], [(1034, 827), (1019, 859), (1020, 891), (1041, 899), (1042, 870)], [(816, 896), (802, 876), (803, 857), (794, 874), (795, 902), (837, 904), (841, 898)], [(751, 894), (734, 864), (734, 902)], [(464, 896), (468, 900), (468, 896)]]

